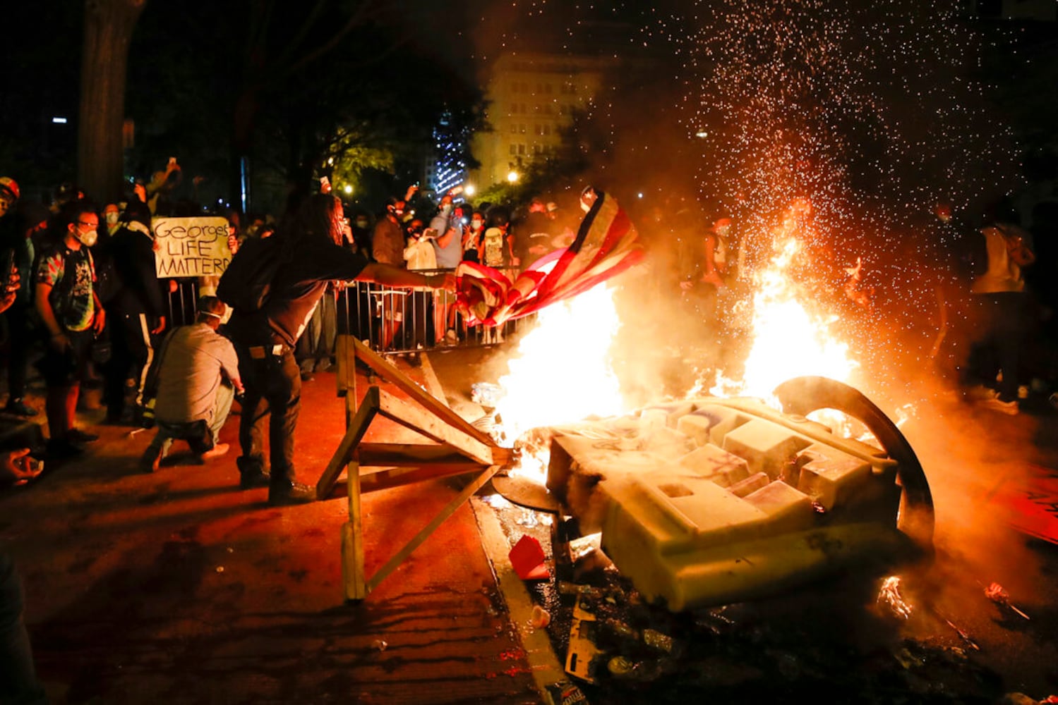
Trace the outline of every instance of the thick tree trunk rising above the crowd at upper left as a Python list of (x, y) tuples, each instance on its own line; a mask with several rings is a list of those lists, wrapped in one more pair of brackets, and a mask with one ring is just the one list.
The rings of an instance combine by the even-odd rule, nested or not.
[(147, 0), (86, 0), (77, 124), (77, 183), (103, 203), (122, 198), (125, 78), (132, 30)]

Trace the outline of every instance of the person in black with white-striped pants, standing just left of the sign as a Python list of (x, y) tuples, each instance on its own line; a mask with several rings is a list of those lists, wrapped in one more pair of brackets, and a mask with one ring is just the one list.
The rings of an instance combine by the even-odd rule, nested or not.
[(125, 384), (135, 383), (135, 405), (143, 404), (143, 383), (154, 357), (154, 341), (165, 329), (165, 300), (154, 275), (154, 238), (147, 204), (130, 202), (107, 245), (116, 286), (104, 303), (110, 310), (111, 357), (106, 370), (107, 421), (125, 411)]

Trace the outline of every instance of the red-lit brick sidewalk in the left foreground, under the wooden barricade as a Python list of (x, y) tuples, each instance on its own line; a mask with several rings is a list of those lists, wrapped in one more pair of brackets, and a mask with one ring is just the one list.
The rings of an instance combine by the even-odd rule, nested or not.
[[(344, 432), (334, 389), (330, 373), (303, 387), (303, 481)], [(469, 505), (346, 605), (345, 501), (272, 508), (266, 489), (240, 491), (237, 424), (227, 456), (153, 475), (136, 470), (152, 431), (99, 426), (83, 459), (0, 495), (0, 545), (21, 570), (53, 702), (540, 701)], [(400, 440), (384, 425), (369, 438)], [(450, 480), (365, 495), (368, 574), (457, 491)]]

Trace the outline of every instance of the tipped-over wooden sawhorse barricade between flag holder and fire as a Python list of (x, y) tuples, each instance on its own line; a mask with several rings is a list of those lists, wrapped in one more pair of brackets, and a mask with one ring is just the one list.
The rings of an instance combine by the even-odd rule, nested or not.
[[(342, 578), (345, 598), (359, 601), (367, 597), (498, 469), (509, 467), (513, 461), (513, 451), (497, 445), (488, 433), (475, 428), (354, 337), (339, 336), (336, 358), (338, 392), (346, 401), (346, 432), (316, 483), (316, 497), (329, 498), (345, 468), (349, 521), (342, 526)], [(372, 385), (358, 408), (358, 359), (404, 392), (414, 404)], [(378, 415), (418, 431), (432, 443), (364, 443), (364, 435)], [(372, 468), (375, 471), (371, 471)], [(365, 574), (364, 533), (361, 523), (363, 491), (472, 471), (477, 475), (404, 548), (394, 554), (375, 575), (368, 577)]]

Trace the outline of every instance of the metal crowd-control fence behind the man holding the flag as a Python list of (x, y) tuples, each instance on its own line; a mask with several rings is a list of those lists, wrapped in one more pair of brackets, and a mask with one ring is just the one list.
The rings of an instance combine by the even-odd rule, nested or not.
[[(425, 270), (432, 275), (454, 270)], [(509, 268), (509, 276), (517, 274)], [(168, 295), (170, 326), (194, 322), (200, 294), (212, 293), (216, 286), (204, 287), (197, 279), (171, 279)], [(316, 308), (303, 338), (312, 349), (329, 348), (333, 354), (334, 335), (354, 335), (382, 354), (399, 354), (453, 347), (478, 347), (503, 342), (521, 331), (531, 318), (507, 321), (500, 327), (467, 326), (456, 309), (456, 295), (451, 292), (396, 289), (364, 281), (334, 282), (328, 286), (324, 300)], [(302, 349), (306, 341), (298, 341)]]

